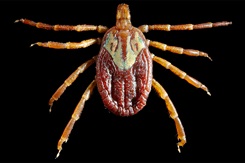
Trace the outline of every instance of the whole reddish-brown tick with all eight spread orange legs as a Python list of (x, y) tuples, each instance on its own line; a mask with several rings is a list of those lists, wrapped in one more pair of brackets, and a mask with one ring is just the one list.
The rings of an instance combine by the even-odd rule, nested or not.
[(202, 56), (211, 60), (207, 53), (194, 49), (183, 49), (181, 47), (169, 46), (157, 41), (148, 40), (143, 33), (150, 30), (193, 30), (204, 29), (219, 26), (227, 26), (232, 22), (216, 22), (216, 23), (202, 23), (202, 24), (182, 24), (182, 25), (141, 25), (138, 28), (132, 26), (130, 11), (127, 4), (119, 4), (116, 14), (116, 25), (110, 29), (106, 26), (95, 25), (48, 25), (41, 22), (33, 22), (28, 19), (20, 19), (15, 22), (22, 22), (37, 28), (54, 31), (89, 31), (97, 30), (99, 33), (105, 33), (103, 39), (91, 38), (81, 42), (37, 42), (33, 45), (38, 45), (54, 49), (78, 49), (86, 48), (93, 44), (101, 45), (100, 52), (97, 56), (86, 61), (77, 68), (57, 89), (49, 101), (50, 111), (53, 102), (58, 100), (64, 93), (65, 89), (70, 86), (89, 66), (96, 63), (96, 76), (90, 83), (82, 95), (81, 100), (77, 104), (70, 121), (68, 122), (59, 142), (58, 153), (59, 156), (62, 149), (62, 144), (67, 142), (68, 137), (75, 122), (79, 119), (83, 111), (85, 101), (87, 101), (93, 89), (97, 85), (98, 91), (101, 95), (104, 106), (112, 113), (118, 116), (132, 116), (137, 114), (146, 105), (148, 95), (151, 91), (151, 86), (156, 90), (159, 96), (165, 100), (170, 117), (174, 120), (178, 140), (178, 151), (180, 146), (186, 143), (186, 135), (184, 128), (179, 119), (178, 113), (170, 100), (165, 89), (152, 77), (152, 68), (155, 61), (172, 71), (181, 79), (186, 80), (191, 85), (201, 88), (211, 95), (207, 87), (198, 80), (190, 77), (184, 71), (178, 69), (167, 60), (157, 57), (150, 53), (149, 46), (161, 49), (163, 51), (170, 51), (176, 54), (185, 54), (188, 56)]

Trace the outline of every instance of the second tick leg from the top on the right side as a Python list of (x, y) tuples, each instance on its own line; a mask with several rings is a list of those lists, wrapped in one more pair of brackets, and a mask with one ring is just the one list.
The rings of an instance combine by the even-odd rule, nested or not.
[(157, 41), (148, 40), (148, 42), (150, 42), (149, 43), (150, 46), (161, 49), (163, 51), (170, 51), (172, 53), (185, 54), (185, 55), (189, 55), (189, 56), (207, 57), (212, 61), (212, 59), (208, 56), (208, 54), (205, 52), (202, 52), (202, 51), (198, 51), (198, 50), (194, 50), (194, 49), (183, 49), (183, 48), (177, 47), (177, 46), (169, 46), (167, 44), (163, 44), (163, 43), (160, 43)]

